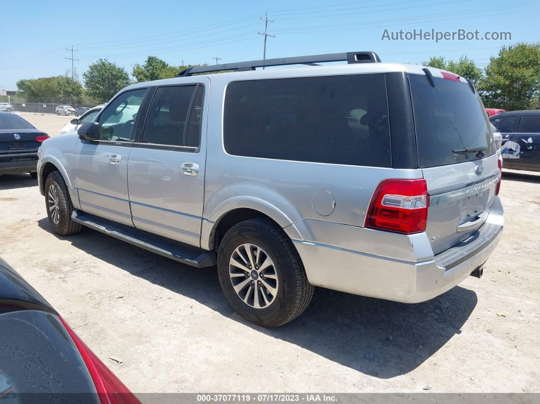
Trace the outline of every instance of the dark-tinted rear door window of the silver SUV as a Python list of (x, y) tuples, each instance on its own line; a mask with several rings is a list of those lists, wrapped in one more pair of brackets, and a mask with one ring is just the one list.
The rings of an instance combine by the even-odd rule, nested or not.
[(143, 132), (143, 143), (183, 146), (187, 110), (196, 86), (159, 87), (154, 94)]

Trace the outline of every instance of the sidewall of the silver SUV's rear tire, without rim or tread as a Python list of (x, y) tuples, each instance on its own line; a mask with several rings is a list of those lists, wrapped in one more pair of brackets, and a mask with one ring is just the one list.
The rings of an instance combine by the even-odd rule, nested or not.
[[(255, 309), (244, 303), (234, 291), (231, 278), (229, 276), (229, 261), (233, 251), (241, 244), (257, 244), (272, 258), (278, 273), (278, 296), (274, 302), (264, 309)], [(289, 254), (281, 242), (271, 235), (254, 229), (253, 227), (244, 227), (234, 229), (228, 232), (221, 242), (218, 253), (218, 275), (221, 289), (223, 290), (228, 302), (240, 315), (252, 323), (262, 326), (279, 323), (280, 319), (286, 316), (292, 310), (294, 304), (294, 287), (296, 282), (291, 265), (293, 263), (288, 259)]]

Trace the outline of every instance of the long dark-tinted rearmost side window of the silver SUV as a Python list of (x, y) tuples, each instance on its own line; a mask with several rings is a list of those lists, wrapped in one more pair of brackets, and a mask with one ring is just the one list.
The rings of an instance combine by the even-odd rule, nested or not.
[(384, 75), (234, 81), (224, 145), (240, 156), (390, 167)]

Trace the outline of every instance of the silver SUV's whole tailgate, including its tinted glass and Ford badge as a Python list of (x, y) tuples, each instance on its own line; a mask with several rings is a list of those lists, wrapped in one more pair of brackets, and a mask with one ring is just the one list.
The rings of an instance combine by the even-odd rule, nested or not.
[(426, 68), (410, 74), (418, 165), (429, 198), (426, 233), (434, 254), (482, 226), (501, 171), (482, 101), (463, 78)]

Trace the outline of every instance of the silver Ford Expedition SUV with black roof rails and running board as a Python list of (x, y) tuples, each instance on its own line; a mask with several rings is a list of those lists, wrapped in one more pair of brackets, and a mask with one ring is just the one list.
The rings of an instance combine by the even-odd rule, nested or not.
[[(310, 66), (257, 69), (293, 64)], [(209, 74), (220, 70), (233, 72)], [(302, 313), (314, 286), (431, 299), (480, 277), (503, 228), (501, 161), (474, 86), (373, 52), (134, 84), (39, 155), (57, 234), (85, 225), (217, 265), (234, 309), (268, 327)]]

